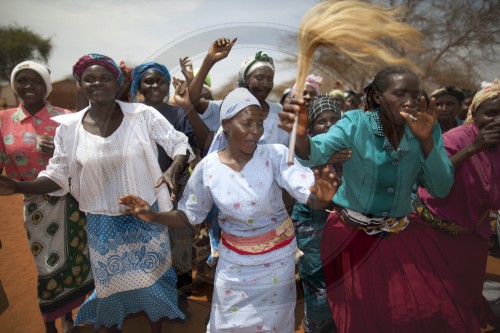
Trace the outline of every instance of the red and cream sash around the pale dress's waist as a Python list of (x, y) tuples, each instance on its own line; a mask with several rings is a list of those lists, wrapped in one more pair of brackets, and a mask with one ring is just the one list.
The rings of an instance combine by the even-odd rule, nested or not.
[(236, 237), (222, 232), (221, 241), (239, 254), (263, 254), (290, 244), (295, 238), (292, 220), (287, 218), (276, 229), (254, 237)]

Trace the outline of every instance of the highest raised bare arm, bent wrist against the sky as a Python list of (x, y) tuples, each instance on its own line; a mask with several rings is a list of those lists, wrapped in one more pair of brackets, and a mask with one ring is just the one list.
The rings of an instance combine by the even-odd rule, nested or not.
[(228, 56), (234, 43), (236, 43), (236, 38), (232, 41), (227, 38), (219, 38), (213, 42), (207, 55), (203, 59), (200, 70), (189, 85), (189, 98), (191, 100), (191, 104), (194, 105), (194, 108), (198, 113), (205, 112), (208, 107), (208, 101), (201, 98), (205, 78), (215, 63)]

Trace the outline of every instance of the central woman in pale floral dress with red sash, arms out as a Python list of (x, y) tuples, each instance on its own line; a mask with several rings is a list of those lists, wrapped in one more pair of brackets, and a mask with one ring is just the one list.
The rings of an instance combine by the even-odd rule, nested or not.
[(285, 146), (258, 145), (263, 120), (258, 100), (236, 88), (221, 105), (223, 131), (196, 166), (178, 211), (157, 213), (136, 196), (120, 202), (169, 227), (199, 224), (217, 205), (222, 241), (207, 332), (294, 331), (297, 245), (281, 188), (317, 208), (336, 190), (328, 172), (314, 177), (298, 163), (289, 166)]

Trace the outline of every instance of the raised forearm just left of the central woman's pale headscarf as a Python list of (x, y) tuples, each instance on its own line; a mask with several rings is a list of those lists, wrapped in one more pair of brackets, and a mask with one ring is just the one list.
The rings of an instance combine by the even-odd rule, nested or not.
[[(173, 77), (172, 83), (175, 87), (175, 102), (186, 113), (186, 117), (189, 119), (189, 122), (193, 127), (196, 142), (198, 143), (198, 148), (202, 150), (208, 150), (214, 138), (214, 133), (210, 131), (203, 120), (201, 120), (198, 113), (194, 110), (189, 98), (189, 89), (185, 87), (185, 82), (176, 77)], [(182, 91), (183, 85), (185, 87), (184, 92)]]

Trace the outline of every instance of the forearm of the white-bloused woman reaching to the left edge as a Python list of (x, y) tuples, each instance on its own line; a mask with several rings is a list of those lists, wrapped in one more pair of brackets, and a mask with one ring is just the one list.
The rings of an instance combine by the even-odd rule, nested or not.
[(18, 182), (9, 177), (0, 175), (0, 195), (45, 194), (60, 190), (61, 187), (47, 177), (38, 177), (35, 180)]

